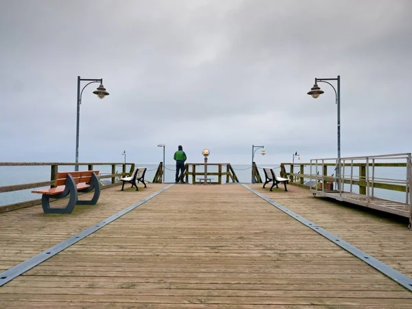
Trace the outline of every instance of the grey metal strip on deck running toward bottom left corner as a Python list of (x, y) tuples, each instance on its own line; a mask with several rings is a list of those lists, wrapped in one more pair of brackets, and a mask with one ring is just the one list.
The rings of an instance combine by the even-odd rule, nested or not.
[(114, 214), (113, 216), (110, 216), (95, 225), (88, 227), (87, 229), (84, 229), (80, 233), (77, 233), (76, 235), (71, 236), (70, 238), (67, 238), (67, 240), (63, 240), (62, 242), (54, 245), (53, 247), (38, 253), (38, 255), (34, 255), (34, 257), (30, 258), (29, 260), (25, 260), (24, 262), (21, 262), (20, 264), (17, 264), (16, 266), (13, 266), (12, 268), (9, 268), (7, 271), (4, 271), (3, 273), (0, 273), (0, 286), (3, 286), (4, 284), (10, 282), (12, 279), (15, 277), (18, 277), (19, 275), (22, 275), (26, 271), (29, 271), (32, 269), (34, 266), (37, 266), (38, 264), (41, 264), (42, 262), (45, 262), (45, 260), (48, 260), (49, 258), (52, 258), (53, 255), (56, 255), (57, 253), (60, 253), (61, 251), (67, 249), (73, 244), (76, 244), (76, 242), (82, 240), (83, 238), (86, 238), (89, 236), (91, 233), (94, 233), (95, 231), (98, 231), (102, 227), (105, 227), (109, 223), (113, 222), (114, 220), (120, 218), (121, 216), (124, 216), (127, 214), (129, 211), (132, 211), (133, 209), (139, 207), (141, 204), (146, 203), (149, 201), (151, 198), (154, 198), (158, 194), (161, 194), (161, 192), (168, 190), (170, 187), (172, 187), (174, 183), (161, 188), (161, 190), (150, 194), (149, 196), (146, 196), (146, 198), (142, 198), (139, 202), (126, 207), (122, 211), (119, 211), (117, 214)]

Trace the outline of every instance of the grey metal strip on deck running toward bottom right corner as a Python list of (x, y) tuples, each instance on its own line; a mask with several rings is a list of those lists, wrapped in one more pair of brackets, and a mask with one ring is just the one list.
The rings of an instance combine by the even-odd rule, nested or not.
[(285, 214), (288, 214), (295, 220), (298, 220), (299, 222), (303, 223), (313, 231), (316, 231), (317, 233), (321, 234), (321, 236), (324, 236), (325, 238), (328, 238), (328, 240), (334, 242), (337, 244), (339, 247), (342, 249), (345, 249), (349, 253), (352, 253), (353, 255), (356, 256), (356, 258), (359, 258), (363, 260), (363, 262), (366, 262), (370, 266), (376, 268), (376, 270), (380, 271), (384, 275), (387, 275), (394, 281), (398, 282), (401, 286), (404, 286), (404, 288), (407, 288), (408, 290), (412, 291), (412, 279), (408, 277), (407, 275), (404, 275), (403, 273), (400, 273), (399, 271), (396, 271), (393, 269), (391, 266), (388, 266), (387, 264), (380, 262), (380, 260), (377, 260), (374, 258), (372, 255), (369, 255), (362, 251), (361, 249), (358, 249), (355, 247), (353, 244), (350, 244), (349, 242), (345, 242), (345, 240), (334, 236), (334, 234), (330, 233), (330, 231), (326, 229), (322, 229), (319, 227), (314, 222), (311, 222), (310, 220), (307, 220), (306, 218), (299, 216), (299, 214), (296, 214), (295, 212), (291, 211), (290, 209), (287, 209), (286, 207), (280, 205), (279, 203), (272, 201), (271, 198), (268, 198), (267, 196), (264, 196), (264, 194), (261, 194), (260, 192), (252, 189), (248, 185), (242, 184), (243, 187), (247, 188), (247, 190), (250, 190), (260, 198), (263, 198), (264, 201), (270, 203), (271, 205), (275, 206), (277, 209), (282, 210)]

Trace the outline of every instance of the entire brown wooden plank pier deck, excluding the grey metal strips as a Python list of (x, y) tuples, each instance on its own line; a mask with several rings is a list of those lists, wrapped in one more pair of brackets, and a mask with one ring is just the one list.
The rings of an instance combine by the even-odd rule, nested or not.
[[(0, 214), (0, 271), (164, 186), (106, 189), (70, 215)], [(404, 218), (251, 187), (412, 276)], [(238, 184), (173, 185), (0, 287), (0, 308), (411, 307), (409, 290)]]

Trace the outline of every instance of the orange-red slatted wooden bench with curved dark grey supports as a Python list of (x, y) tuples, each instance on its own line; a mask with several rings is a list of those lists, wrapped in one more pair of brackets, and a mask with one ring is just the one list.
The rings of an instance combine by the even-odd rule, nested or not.
[[(33, 190), (32, 193), (43, 194), (41, 205), (45, 214), (71, 214), (76, 205), (95, 205), (100, 197), (100, 181), (98, 170), (80, 172), (58, 172), (54, 187), (50, 189)], [(78, 200), (78, 192), (91, 192), (94, 190), (90, 201)], [(70, 195), (66, 207), (50, 207), (50, 198), (64, 198)]]

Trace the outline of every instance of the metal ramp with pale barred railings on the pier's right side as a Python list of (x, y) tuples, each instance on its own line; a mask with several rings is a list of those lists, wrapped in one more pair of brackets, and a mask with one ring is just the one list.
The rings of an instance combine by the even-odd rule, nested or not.
[[(391, 161), (391, 163), (387, 163)], [(339, 176), (328, 176), (328, 167), (339, 169)], [(392, 170), (390, 169), (392, 168)], [(335, 172), (335, 174), (337, 174)], [(404, 175), (404, 177), (400, 175)], [(311, 159), (306, 181), (313, 196), (334, 198), (363, 207), (409, 218), (412, 227), (411, 153)], [(333, 187), (334, 190), (328, 190)], [(391, 190), (404, 202), (376, 196), (377, 191)], [(402, 193), (403, 192), (403, 193)], [(378, 194), (379, 195), (379, 194)]]

